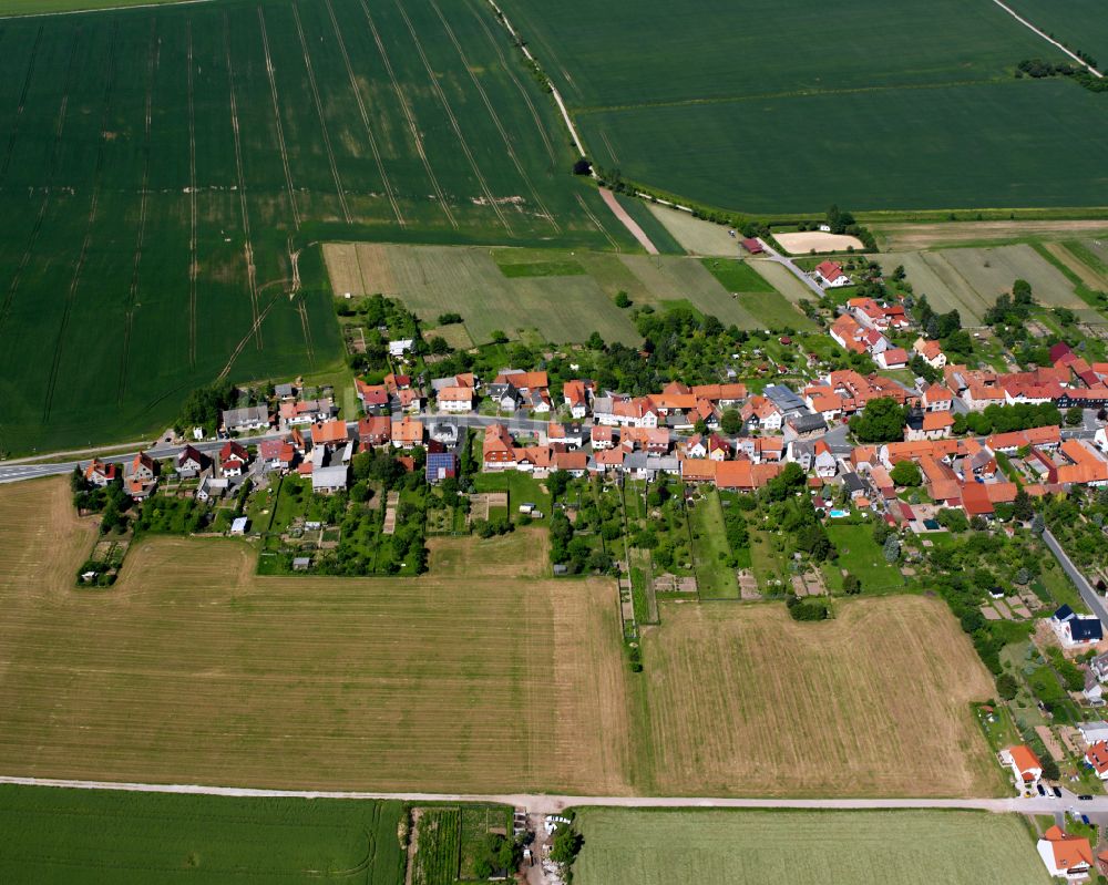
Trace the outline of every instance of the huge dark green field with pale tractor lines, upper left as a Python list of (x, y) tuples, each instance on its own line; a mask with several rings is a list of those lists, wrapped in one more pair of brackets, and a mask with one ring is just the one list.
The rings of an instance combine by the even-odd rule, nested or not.
[(135, 439), (220, 373), (336, 366), (325, 235), (634, 249), (571, 164), (478, 0), (3, 21), (0, 449)]

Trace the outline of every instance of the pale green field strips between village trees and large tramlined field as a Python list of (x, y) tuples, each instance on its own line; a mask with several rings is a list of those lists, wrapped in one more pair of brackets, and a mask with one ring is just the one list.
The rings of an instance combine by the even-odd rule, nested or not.
[(493, 330), (513, 338), (535, 331), (556, 342), (584, 341), (597, 331), (606, 341), (637, 343), (632, 312), (614, 302), (620, 291), (639, 306), (687, 301), (742, 329), (810, 327), (779, 294), (735, 297), (699, 259), (686, 256), (384, 244), (328, 244), (325, 254), (336, 294), (397, 297), (430, 322), (456, 311), (479, 344)]

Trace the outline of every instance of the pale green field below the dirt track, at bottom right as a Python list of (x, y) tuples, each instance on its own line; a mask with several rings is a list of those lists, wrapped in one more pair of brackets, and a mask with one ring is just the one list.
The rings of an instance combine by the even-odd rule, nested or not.
[(1014, 814), (579, 809), (574, 882), (1047, 885)]

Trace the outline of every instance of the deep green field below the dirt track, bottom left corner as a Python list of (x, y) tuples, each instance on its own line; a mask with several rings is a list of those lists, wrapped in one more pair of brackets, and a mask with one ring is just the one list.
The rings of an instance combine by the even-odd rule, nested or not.
[(6, 883), (401, 885), (399, 802), (0, 785)]

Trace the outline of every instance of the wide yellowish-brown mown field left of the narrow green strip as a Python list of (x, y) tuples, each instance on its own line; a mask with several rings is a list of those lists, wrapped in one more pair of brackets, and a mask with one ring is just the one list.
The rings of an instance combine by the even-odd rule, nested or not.
[(259, 577), (246, 544), (157, 538), (110, 591), (80, 591), (91, 526), (68, 497), (63, 480), (0, 488), (4, 549), (22, 550), (0, 564), (6, 773), (629, 791), (609, 582), (484, 576), (480, 557), (411, 579)]

